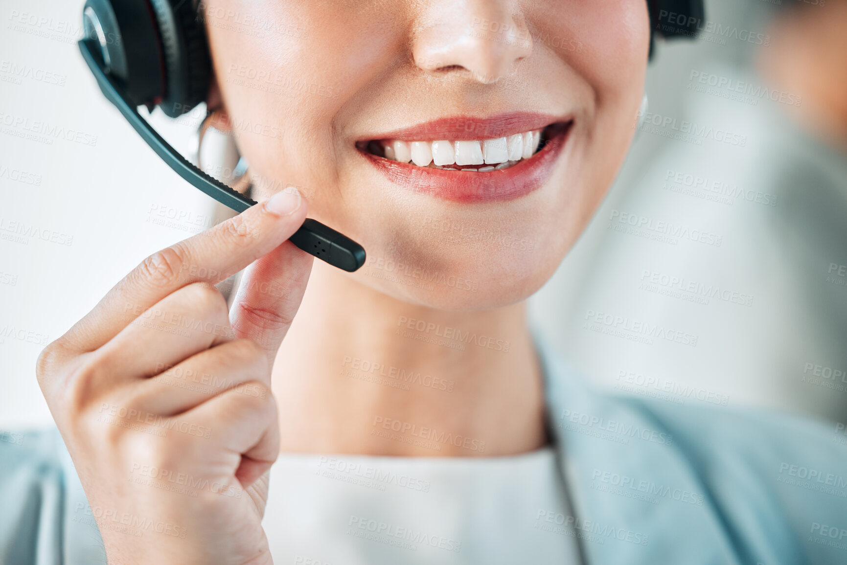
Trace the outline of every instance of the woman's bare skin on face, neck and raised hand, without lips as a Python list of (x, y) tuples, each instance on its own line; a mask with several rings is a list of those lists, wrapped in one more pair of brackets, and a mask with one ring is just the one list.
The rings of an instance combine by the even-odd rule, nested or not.
[[(110, 563), (271, 562), (261, 518), (280, 450), (473, 457), (543, 445), (541, 368), (523, 300), (605, 195), (643, 91), (640, 0), (217, 6), (252, 23), (206, 14), (213, 99), (258, 196), (296, 185), (303, 197), (281, 191), (153, 254), (39, 357), (39, 384)], [(272, 33), (257, 24), (268, 22)], [(242, 68), (278, 86), (235, 80)], [(355, 147), (421, 121), (515, 110), (574, 121), (547, 184), (507, 202), (402, 191)], [(379, 263), (346, 274), (313, 262), (286, 241), (307, 213), (372, 260), (470, 280), (474, 290), (388, 279)], [(433, 220), (462, 230), (445, 237)], [(532, 245), (480, 244), (480, 232)], [(213, 285), (245, 268), (228, 312)], [(409, 319), (433, 330), (404, 334)], [(478, 339), (421, 341), (446, 326)], [(356, 359), (424, 378), (406, 389), (374, 383), (373, 373), (351, 378)], [(374, 433), (386, 421), (453, 440), (434, 448), (386, 439)], [(161, 488), (185, 485), (178, 477), (191, 478), (194, 495)], [(114, 525), (139, 522), (153, 527), (135, 535)]]

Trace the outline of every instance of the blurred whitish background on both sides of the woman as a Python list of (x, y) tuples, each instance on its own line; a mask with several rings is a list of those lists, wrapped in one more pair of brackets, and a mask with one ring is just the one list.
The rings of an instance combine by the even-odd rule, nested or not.
[[(34, 371), (42, 343), (68, 330), (142, 258), (205, 229), (216, 213), (100, 94), (75, 44), (82, 4), (6, 0), (0, 8), (0, 427), (50, 423)], [(712, 22), (761, 34), (771, 13), (752, 0), (706, 8)], [(818, 208), (837, 213), (843, 203), (844, 156), (794, 130), (782, 102), (689, 90), (695, 71), (761, 83), (752, 75), (762, 48), (715, 34), (657, 46), (648, 118), (726, 130), (743, 136), (745, 147), (714, 136), (699, 144), (664, 136), (673, 126), (639, 131), (616, 186), (531, 313), (573, 366), (601, 385), (623, 383), (645, 395), (656, 386), (643, 384), (655, 382), (669, 402), (765, 405), (844, 421), (847, 382), (839, 391), (828, 387), (832, 378), (804, 381), (807, 363), (806, 376), (815, 366), (822, 374), (847, 368), (847, 286), (826, 272), (831, 263), (847, 264), (847, 251), (839, 235), (824, 230), (814, 239), (810, 231)], [(154, 122), (185, 148), (201, 117), (202, 108)], [(777, 204), (668, 190), (669, 170), (778, 196)], [(812, 198), (798, 215), (804, 195), (820, 193), (829, 199)], [(672, 245), (613, 231), (615, 211), (719, 235), (722, 243)], [(20, 235), (20, 226), (41, 237)], [(690, 293), (679, 295), (688, 300), (659, 294), (661, 285), (639, 288), (653, 273), (752, 302), (700, 304)], [(696, 335), (696, 346), (606, 335), (591, 330), (590, 312)]]

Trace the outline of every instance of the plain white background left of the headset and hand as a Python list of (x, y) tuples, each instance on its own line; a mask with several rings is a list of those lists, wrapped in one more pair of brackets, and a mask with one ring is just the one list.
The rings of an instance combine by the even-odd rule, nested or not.
[[(53, 341), (141, 259), (213, 220), (213, 200), (162, 163), (97, 88), (76, 46), (83, 4), (0, 8), (0, 234), (14, 238), (18, 222), (70, 241), (0, 240), (0, 427), (52, 422), (35, 379), (42, 345), (30, 341)], [(185, 148), (203, 112), (169, 120), (157, 110), (153, 121)], [(47, 133), (19, 137), (32, 130)], [(41, 182), (12, 180), (13, 171)], [(34, 333), (20, 340), (10, 329)]]

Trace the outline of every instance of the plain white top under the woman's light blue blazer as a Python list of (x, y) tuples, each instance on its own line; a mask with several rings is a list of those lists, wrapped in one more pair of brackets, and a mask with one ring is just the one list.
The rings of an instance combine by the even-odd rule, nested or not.
[(283, 454), (263, 527), (280, 564), (577, 564), (556, 459)]

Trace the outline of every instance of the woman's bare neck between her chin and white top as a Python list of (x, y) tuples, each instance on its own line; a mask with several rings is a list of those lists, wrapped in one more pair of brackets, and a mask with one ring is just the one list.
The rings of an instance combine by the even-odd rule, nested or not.
[(315, 261), (273, 372), (281, 451), (500, 456), (545, 444), (523, 302), (411, 305)]

